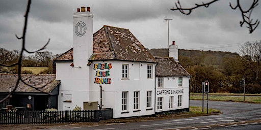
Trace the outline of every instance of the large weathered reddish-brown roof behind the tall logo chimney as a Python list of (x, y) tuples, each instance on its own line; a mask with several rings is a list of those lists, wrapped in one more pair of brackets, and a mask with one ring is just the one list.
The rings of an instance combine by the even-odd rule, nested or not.
[[(73, 49), (70, 49), (55, 60), (71, 60), (72, 55)], [(93, 34), (93, 54), (89, 60), (156, 62), (131, 31), (107, 25)]]

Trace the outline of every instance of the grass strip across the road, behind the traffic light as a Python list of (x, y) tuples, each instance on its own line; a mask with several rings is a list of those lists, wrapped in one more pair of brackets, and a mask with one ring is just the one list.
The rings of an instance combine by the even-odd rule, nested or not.
[[(191, 93), (190, 100), (202, 100), (202, 93)], [(204, 94), (204, 100), (206, 95)], [(245, 101), (243, 94), (234, 93), (208, 93), (208, 100), (213, 101), (232, 101), (232, 102), (246, 102), (261, 104), (261, 94), (245, 94)]]

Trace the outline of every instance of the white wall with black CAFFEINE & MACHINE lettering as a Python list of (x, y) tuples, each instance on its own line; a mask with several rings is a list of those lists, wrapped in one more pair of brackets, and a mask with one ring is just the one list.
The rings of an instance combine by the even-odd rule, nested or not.
[[(156, 112), (189, 108), (189, 77), (182, 77), (182, 86), (178, 86), (178, 77), (163, 77), (163, 87), (158, 87), (156, 78)], [(182, 95), (181, 107), (178, 107), (178, 95)], [(173, 96), (173, 108), (169, 109), (169, 98)], [(158, 97), (163, 97), (163, 109), (158, 110)]]

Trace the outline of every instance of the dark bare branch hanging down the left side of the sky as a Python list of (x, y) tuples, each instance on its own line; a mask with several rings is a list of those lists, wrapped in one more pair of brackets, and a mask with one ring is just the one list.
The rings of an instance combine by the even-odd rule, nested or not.
[[(15, 84), (15, 87), (14, 87), (14, 89), (13, 89), (5, 98), (3, 98), (3, 99), (0, 101), (0, 103), (2, 103), (2, 102), (4, 102), (5, 100), (7, 100), (7, 99), (13, 94), (13, 92), (17, 89), (18, 84), (19, 84), (20, 82), (22, 82), (22, 83), (24, 83), (25, 85), (30, 86), (30, 87), (32, 87), (32, 88), (34, 88), (34, 89), (36, 89), (36, 90), (39, 90), (39, 91), (41, 91), (41, 92), (44, 92), (44, 91), (40, 90), (40, 88), (34, 87), (34, 86), (32, 86), (32, 85), (29, 85), (27, 82), (24, 82), (24, 81), (22, 80), (22, 77), (21, 77), (21, 62), (22, 62), (23, 53), (24, 53), (24, 52), (28, 52), (28, 53), (39, 52), (39, 51), (45, 49), (45, 47), (48, 45), (48, 43), (49, 43), (49, 41), (50, 41), (50, 39), (48, 39), (48, 42), (47, 42), (42, 48), (40, 48), (39, 50), (36, 50), (36, 51), (28, 51), (28, 50), (25, 48), (25, 38), (26, 38), (25, 36), (26, 36), (26, 31), (27, 31), (27, 22), (28, 22), (28, 15), (29, 15), (29, 11), (30, 11), (30, 6), (31, 6), (31, 0), (28, 0), (27, 10), (26, 10), (25, 15), (24, 15), (24, 26), (23, 26), (23, 34), (22, 34), (22, 37), (19, 38), (19, 37), (17, 37), (17, 35), (15, 35), (18, 40), (22, 40), (22, 49), (21, 49), (21, 51), (20, 51), (20, 55), (19, 55), (18, 61), (15, 62), (15, 63), (13, 63), (13, 64), (10, 64), (10, 65), (7, 65), (7, 64), (4, 64), (4, 63), (0, 63), (0, 66), (2, 66), (2, 67), (14, 67), (14, 66), (18, 66), (18, 75), (17, 75), (18, 78), (17, 78), (16, 84)], [(42, 86), (41, 88), (43, 88), (43, 87), (45, 87), (45, 86)], [(45, 93), (45, 92), (44, 92), (44, 93)]]

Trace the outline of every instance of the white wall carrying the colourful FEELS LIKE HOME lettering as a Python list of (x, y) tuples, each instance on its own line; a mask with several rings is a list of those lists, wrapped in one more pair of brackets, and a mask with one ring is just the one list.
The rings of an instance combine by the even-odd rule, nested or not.
[[(111, 63), (112, 68), (109, 69), (93, 69), (95, 63)], [(121, 78), (121, 66), (128, 64), (128, 79)], [(102, 107), (113, 108), (113, 117), (130, 117), (154, 114), (154, 85), (155, 85), (155, 64), (152, 64), (152, 78), (147, 78), (147, 64), (131, 61), (94, 61), (90, 66), (90, 100), (98, 101), (100, 104), (100, 87), (102, 85)], [(110, 71), (110, 76), (101, 78), (111, 78), (111, 84), (97, 84), (95, 78), (97, 71)], [(122, 113), (122, 92), (128, 92), (128, 112)], [(134, 112), (134, 91), (140, 91), (139, 110)], [(151, 110), (146, 108), (147, 91), (152, 91)]]

